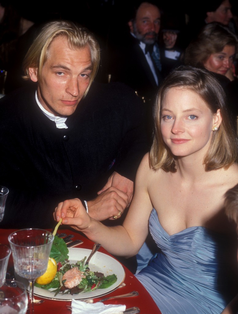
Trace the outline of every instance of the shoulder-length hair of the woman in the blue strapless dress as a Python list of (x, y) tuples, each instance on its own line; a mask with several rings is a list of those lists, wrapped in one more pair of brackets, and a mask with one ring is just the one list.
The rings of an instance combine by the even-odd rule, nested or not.
[(225, 103), (225, 94), (213, 74), (207, 70), (191, 66), (180, 66), (172, 71), (161, 85), (154, 104), (154, 134), (150, 149), (150, 165), (154, 170), (161, 168), (176, 172), (176, 156), (165, 145), (161, 135), (161, 106), (169, 89), (185, 88), (197, 93), (213, 114), (220, 109), (222, 122), (217, 131), (212, 133), (211, 144), (204, 156), (205, 171), (215, 170), (237, 161), (237, 138), (232, 119)]

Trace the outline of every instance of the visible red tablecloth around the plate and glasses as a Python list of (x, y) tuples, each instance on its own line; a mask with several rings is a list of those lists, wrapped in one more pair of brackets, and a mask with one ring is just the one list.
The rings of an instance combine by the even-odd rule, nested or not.
[[(0, 243), (9, 246), (8, 236), (15, 231), (14, 229), (0, 229)], [(52, 231), (52, 230), (50, 230)], [(83, 234), (74, 231), (73, 229), (58, 229), (58, 233), (65, 233), (68, 235), (73, 235), (72, 240), (81, 240), (82, 244), (75, 246), (78, 248), (84, 249), (92, 249), (94, 242), (86, 238)], [(112, 257), (112, 255), (107, 252), (102, 246), (99, 249), (99, 252), (107, 254)], [(118, 262), (119, 263), (119, 262)], [(104, 301), (104, 304), (123, 304), (126, 305), (126, 308), (130, 307), (138, 307), (140, 309), (140, 314), (161, 314), (160, 309), (149, 295), (148, 291), (143, 287), (143, 285), (139, 282), (139, 280), (127, 269), (124, 265), (122, 265), (125, 270), (125, 279), (122, 287), (118, 287), (116, 290), (109, 292), (106, 296), (95, 298), (94, 302), (104, 298), (111, 297), (116, 295), (123, 295), (132, 291), (138, 291), (139, 295), (135, 297), (122, 298), (122, 299), (112, 299)], [(8, 269), (13, 267), (13, 259), (10, 256), (8, 262)], [(73, 296), (72, 296), (73, 298)], [(34, 305), (34, 313), (52, 313), (52, 314), (71, 314), (71, 310), (69, 306), (71, 306), (71, 301), (65, 300), (48, 300), (43, 299), (41, 297), (35, 296), (36, 300), (44, 300), (42, 303), (38, 303)]]

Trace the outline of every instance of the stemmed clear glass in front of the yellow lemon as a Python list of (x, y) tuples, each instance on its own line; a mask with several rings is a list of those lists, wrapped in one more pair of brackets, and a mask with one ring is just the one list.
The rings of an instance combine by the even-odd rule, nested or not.
[(15, 272), (29, 281), (29, 311), (34, 311), (34, 281), (46, 272), (54, 236), (42, 229), (22, 229), (8, 236)]

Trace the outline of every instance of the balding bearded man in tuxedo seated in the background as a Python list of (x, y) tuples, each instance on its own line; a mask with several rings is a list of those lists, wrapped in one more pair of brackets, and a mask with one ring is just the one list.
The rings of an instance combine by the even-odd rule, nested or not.
[(128, 17), (127, 35), (116, 45), (112, 59), (112, 80), (134, 89), (146, 101), (154, 95), (162, 81), (160, 50), (160, 9), (150, 2), (133, 6)]

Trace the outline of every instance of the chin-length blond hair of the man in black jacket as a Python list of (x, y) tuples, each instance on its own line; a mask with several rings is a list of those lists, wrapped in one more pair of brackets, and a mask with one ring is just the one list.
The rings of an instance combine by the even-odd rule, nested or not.
[(24, 79), (30, 79), (29, 68), (37, 68), (37, 78), (41, 82), (41, 74), (44, 63), (47, 59), (47, 52), (51, 42), (58, 36), (68, 38), (68, 45), (72, 49), (83, 49), (90, 47), (92, 58), (92, 73), (90, 82), (84, 96), (87, 94), (98, 70), (100, 60), (100, 48), (95, 36), (88, 29), (70, 21), (53, 21), (47, 23), (40, 34), (35, 38), (30, 46), (24, 61), (23, 69), (25, 72)]

